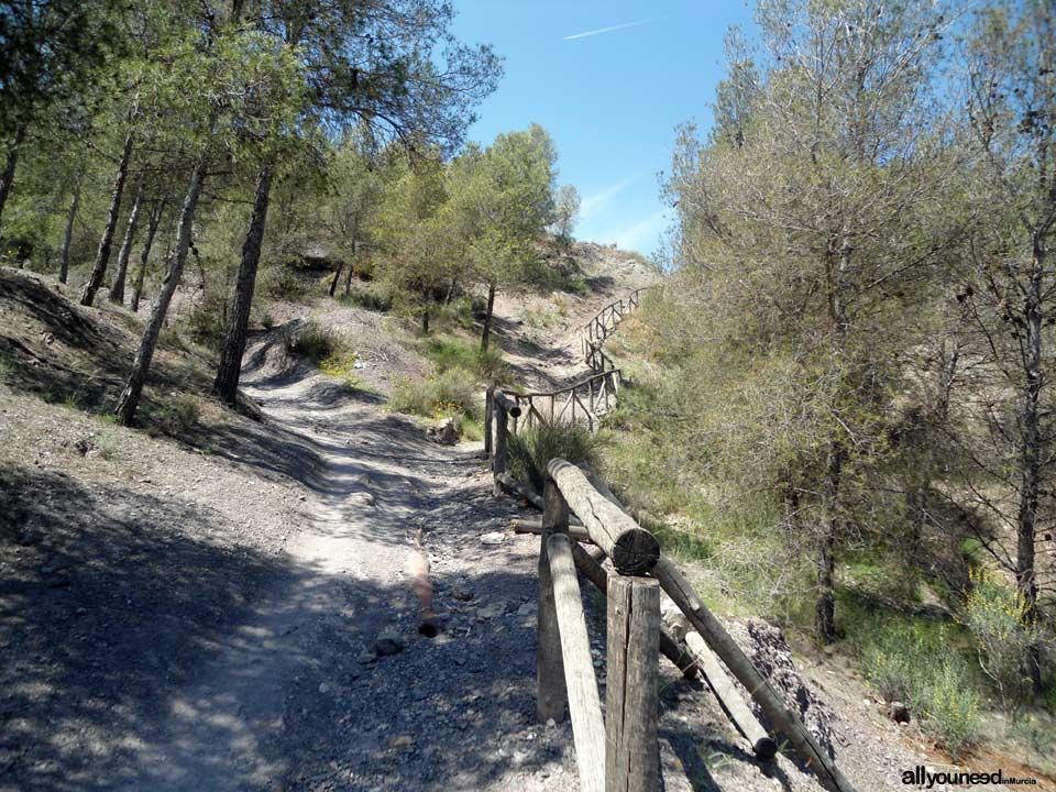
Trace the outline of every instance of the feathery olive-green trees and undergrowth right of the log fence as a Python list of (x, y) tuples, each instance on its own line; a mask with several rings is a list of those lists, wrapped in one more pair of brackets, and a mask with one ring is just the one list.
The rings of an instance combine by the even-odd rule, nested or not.
[(679, 134), (610, 468), (727, 607), (845, 641), (958, 755), (979, 697), (1056, 707), (1056, 15), (757, 21)]

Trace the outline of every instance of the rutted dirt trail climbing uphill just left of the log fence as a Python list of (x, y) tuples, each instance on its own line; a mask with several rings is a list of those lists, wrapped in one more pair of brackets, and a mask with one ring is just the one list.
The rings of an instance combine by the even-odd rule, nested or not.
[[(491, 496), (480, 444), (437, 446), (267, 352), (244, 389), (322, 461), (302, 479), (311, 528), (121, 789), (574, 789), (569, 727), (534, 723), (537, 540), (508, 535), (521, 512)], [(418, 631), (424, 566), (436, 637)]]

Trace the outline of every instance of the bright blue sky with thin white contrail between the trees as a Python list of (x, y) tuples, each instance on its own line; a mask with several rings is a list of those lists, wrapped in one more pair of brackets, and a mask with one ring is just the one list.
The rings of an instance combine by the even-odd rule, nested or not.
[(723, 76), (723, 36), (749, 28), (730, 2), (457, 0), (455, 33), (506, 58), (498, 90), (470, 136), (536, 122), (553, 136), (562, 184), (583, 197), (576, 237), (652, 253), (669, 224), (658, 174), (670, 167), (675, 125), (711, 124)]

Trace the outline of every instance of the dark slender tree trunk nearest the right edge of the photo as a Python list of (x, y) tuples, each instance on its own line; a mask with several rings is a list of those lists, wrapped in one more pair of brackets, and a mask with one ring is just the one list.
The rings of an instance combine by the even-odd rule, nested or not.
[[(1024, 616), (1037, 616), (1037, 580), (1034, 572), (1034, 539), (1037, 532), (1037, 504), (1042, 483), (1042, 436), (1038, 428), (1038, 402), (1042, 391), (1042, 273), (1045, 251), (1034, 242), (1034, 267), (1026, 290), (1023, 318), (1026, 324), (1026, 383), (1020, 415), (1022, 455), (1020, 461), (1020, 512), (1016, 519), (1015, 584), (1023, 596)], [(1038, 648), (1031, 647), (1024, 658), (1035, 689), (1041, 689)]]

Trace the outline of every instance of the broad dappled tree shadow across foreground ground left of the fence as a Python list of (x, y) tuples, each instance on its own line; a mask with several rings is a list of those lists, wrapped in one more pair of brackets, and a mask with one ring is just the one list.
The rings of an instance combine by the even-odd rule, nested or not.
[[(0, 787), (439, 792), (569, 749), (532, 723), (530, 573), (435, 574), (450, 617), (430, 640), (391, 571), (295, 565), (120, 487), (0, 477)], [(406, 648), (375, 658), (382, 630)]]

